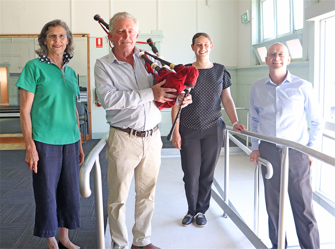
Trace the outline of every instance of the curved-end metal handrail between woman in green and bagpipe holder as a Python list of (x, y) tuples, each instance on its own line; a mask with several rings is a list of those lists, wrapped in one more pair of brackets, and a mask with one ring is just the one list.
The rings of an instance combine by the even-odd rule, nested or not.
[(94, 166), (94, 201), (96, 217), (96, 237), (99, 249), (105, 248), (105, 227), (104, 227), (104, 209), (103, 209), (103, 190), (101, 169), (99, 163), (99, 153), (108, 141), (109, 132), (94, 146), (86, 157), (84, 164), (79, 171), (79, 190), (83, 197), (89, 197), (92, 193), (89, 187), (89, 175)]

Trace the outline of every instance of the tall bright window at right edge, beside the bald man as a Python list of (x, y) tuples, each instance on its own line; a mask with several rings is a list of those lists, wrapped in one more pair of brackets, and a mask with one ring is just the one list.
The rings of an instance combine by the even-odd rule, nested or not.
[[(334, 76), (334, 39), (335, 17), (334, 1), (321, 1), (305, 9), (306, 21), (314, 21), (311, 30), (313, 41), (309, 47), (310, 71), (313, 73), (314, 89), (319, 93), (319, 102), (323, 106), (326, 121), (323, 130), (322, 152), (334, 157), (335, 151), (335, 76)], [(312, 167), (313, 200), (316, 200), (329, 213), (335, 213), (335, 168), (318, 161)]]

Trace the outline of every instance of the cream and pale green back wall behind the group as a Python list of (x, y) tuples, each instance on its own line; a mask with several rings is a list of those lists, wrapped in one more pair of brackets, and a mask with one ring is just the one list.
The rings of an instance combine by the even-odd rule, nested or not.
[[(211, 0), (210, 6), (206, 5), (206, 0), (1, 0), (0, 34), (39, 34), (46, 22), (56, 18), (67, 22), (74, 34), (90, 34), (93, 90), (95, 60), (109, 52), (107, 39), (104, 39), (103, 49), (95, 48), (95, 38), (107, 36), (93, 20), (95, 14), (108, 22), (114, 13), (127, 11), (138, 18), (142, 34), (162, 30), (164, 38), (160, 52), (166, 60), (176, 63), (194, 61), (190, 47), (192, 37), (196, 32), (205, 32), (213, 38), (211, 61), (229, 67), (236, 107), (249, 107), (253, 80), (248, 72), (252, 70), (243, 67), (251, 66), (252, 22), (241, 23), (241, 14), (251, 11), (251, 5), (251, 0)], [(304, 68), (308, 70), (308, 66)], [(263, 71), (258, 70), (254, 78), (264, 77), (266, 68)], [(108, 126), (105, 112), (94, 106), (94, 92), (91, 92), (91, 106), (92, 132), (100, 137)]]

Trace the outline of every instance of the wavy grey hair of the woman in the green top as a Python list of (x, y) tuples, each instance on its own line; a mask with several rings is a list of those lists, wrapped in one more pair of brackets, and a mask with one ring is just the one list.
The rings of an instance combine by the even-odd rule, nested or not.
[(74, 50), (73, 35), (70, 31), (69, 26), (66, 24), (66, 22), (59, 20), (59, 19), (52, 20), (44, 25), (44, 27), (41, 30), (40, 35), (38, 36), (40, 48), (35, 50), (35, 53), (38, 54), (39, 56), (48, 55), (48, 48), (45, 45), (45, 41), (47, 39), (49, 29), (51, 27), (56, 27), (56, 26), (62, 26), (65, 29), (66, 37), (69, 40), (69, 43), (68, 43), (69, 46), (65, 48), (65, 52), (73, 56), (73, 50)]

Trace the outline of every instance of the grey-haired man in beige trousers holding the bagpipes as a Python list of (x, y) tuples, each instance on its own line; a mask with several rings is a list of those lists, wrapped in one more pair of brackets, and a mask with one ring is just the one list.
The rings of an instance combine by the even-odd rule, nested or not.
[[(108, 37), (114, 47), (110, 54), (97, 59), (95, 87), (106, 110), (111, 129), (107, 143), (108, 216), (114, 248), (128, 248), (125, 204), (135, 174), (135, 224), (131, 248), (158, 248), (151, 244), (151, 217), (155, 185), (160, 166), (162, 141), (158, 130), (161, 120), (155, 101), (164, 103), (178, 98), (185, 107), (190, 95), (178, 97), (177, 90), (164, 88), (165, 80), (155, 84), (155, 77), (145, 69), (135, 47), (138, 20), (127, 12), (116, 13), (110, 20)], [(157, 61), (158, 62), (158, 61)]]

